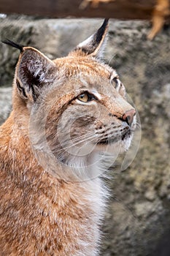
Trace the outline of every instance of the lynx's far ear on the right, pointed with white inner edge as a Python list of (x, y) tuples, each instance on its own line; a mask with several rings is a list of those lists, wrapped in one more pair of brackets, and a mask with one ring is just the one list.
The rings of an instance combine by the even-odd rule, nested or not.
[(96, 58), (101, 58), (104, 50), (104, 41), (106, 39), (106, 34), (108, 30), (109, 19), (105, 19), (101, 27), (96, 31), (95, 34), (88, 37), (70, 53), (70, 55), (77, 53), (80, 56), (93, 56)]

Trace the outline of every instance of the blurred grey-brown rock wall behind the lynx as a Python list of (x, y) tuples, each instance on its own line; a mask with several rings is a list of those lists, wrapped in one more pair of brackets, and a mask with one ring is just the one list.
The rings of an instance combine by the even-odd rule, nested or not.
[[(66, 56), (101, 19), (0, 18), (0, 39)], [(117, 69), (142, 124), (139, 151), (125, 171), (115, 168), (101, 255), (170, 255), (170, 28), (150, 42), (145, 21), (110, 20), (105, 60)], [(0, 44), (0, 123), (11, 109), (18, 50)]]

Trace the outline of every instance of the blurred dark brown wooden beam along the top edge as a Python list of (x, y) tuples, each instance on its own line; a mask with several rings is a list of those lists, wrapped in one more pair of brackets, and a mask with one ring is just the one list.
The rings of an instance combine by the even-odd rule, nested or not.
[[(90, 1), (89, 1), (90, 2)], [(118, 19), (148, 20), (152, 16), (155, 0), (110, 0), (99, 2), (97, 8), (87, 4), (81, 9), (82, 0), (1, 0), (0, 13), (62, 17), (109, 17)]]

